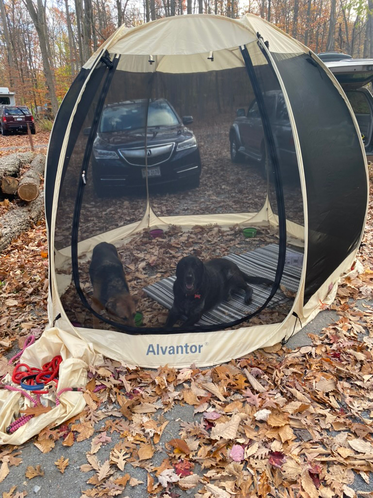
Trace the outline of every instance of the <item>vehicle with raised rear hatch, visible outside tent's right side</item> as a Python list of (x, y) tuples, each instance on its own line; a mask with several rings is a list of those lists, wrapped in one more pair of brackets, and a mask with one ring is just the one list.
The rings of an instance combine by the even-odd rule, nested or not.
[(373, 59), (353, 59), (338, 52), (317, 54), (345, 91), (362, 134), (365, 153), (373, 159), (373, 95), (366, 87), (373, 81)]

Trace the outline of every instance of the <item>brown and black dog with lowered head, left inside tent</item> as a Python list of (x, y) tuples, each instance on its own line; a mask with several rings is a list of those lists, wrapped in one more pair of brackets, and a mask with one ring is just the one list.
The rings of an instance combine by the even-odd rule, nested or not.
[[(134, 327), (135, 298), (129, 293), (123, 264), (113, 244), (101, 242), (94, 247), (90, 278), (93, 286), (92, 309), (96, 313), (105, 309), (110, 320)], [(97, 321), (96, 318), (94, 325)]]

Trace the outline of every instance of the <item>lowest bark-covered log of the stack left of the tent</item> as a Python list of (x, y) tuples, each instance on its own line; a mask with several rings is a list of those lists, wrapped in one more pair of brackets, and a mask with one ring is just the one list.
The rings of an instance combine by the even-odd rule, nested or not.
[(44, 192), (35, 201), (9, 210), (0, 218), (0, 252), (43, 217)]

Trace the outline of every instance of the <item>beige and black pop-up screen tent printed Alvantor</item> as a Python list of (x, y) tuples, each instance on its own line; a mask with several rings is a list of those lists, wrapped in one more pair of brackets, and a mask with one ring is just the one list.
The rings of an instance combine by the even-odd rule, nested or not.
[[(56, 118), (45, 192), (49, 328), (127, 363), (204, 366), (289, 337), (333, 300), (364, 230), (367, 163), (306, 47), (253, 15), (183, 15), (119, 28), (93, 54)], [(165, 326), (188, 255), (271, 283)]]

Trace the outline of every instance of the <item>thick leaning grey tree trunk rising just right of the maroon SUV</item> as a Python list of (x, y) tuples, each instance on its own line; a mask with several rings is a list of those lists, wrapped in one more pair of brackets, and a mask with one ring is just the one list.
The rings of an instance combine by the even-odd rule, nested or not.
[(51, 65), (49, 63), (50, 60), (50, 54), (48, 53), (48, 48), (47, 48), (47, 29), (45, 26), (45, 13), (44, 13), (44, 5), (42, 3), (42, 0), (37, 0), (37, 9), (35, 9), (34, 4), (32, 3), (32, 0), (25, 0), (26, 5), (27, 5), (27, 10), (30, 13), (32, 22), (35, 25), (36, 32), (38, 34), (39, 38), (39, 46), (40, 46), (40, 52), (41, 52), (41, 57), (43, 61), (43, 70), (44, 70), (44, 75), (45, 75), (45, 80), (47, 84), (47, 89), (49, 93), (49, 98), (52, 104), (52, 112), (53, 116), (55, 117), (58, 111), (58, 101), (56, 97), (56, 90), (54, 86), (54, 77), (53, 77), (53, 72)]

